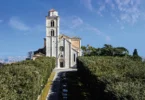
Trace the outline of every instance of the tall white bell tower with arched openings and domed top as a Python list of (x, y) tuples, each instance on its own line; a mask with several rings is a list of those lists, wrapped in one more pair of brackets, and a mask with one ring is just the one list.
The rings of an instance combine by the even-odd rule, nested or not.
[[(56, 57), (59, 54), (59, 16), (58, 12), (51, 9), (46, 16), (46, 56)], [(57, 63), (57, 67), (59, 67)]]

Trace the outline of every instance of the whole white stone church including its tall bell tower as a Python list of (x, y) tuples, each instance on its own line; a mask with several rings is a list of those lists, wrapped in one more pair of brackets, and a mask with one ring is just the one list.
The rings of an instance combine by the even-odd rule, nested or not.
[(76, 67), (76, 58), (81, 56), (81, 38), (60, 34), (60, 17), (51, 9), (46, 16), (46, 56), (56, 57), (56, 68)]

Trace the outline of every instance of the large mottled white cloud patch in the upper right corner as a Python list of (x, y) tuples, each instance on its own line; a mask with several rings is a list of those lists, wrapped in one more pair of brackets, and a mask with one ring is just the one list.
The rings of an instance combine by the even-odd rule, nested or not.
[(103, 11), (107, 10), (111, 12), (111, 16), (112, 13), (116, 16), (116, 18), (112, 16), (115, 20), (134, 24), (143, 16), (143, 11), (140, 9), (141, 1), (143, 0), (105, 0), (105, 2), (98, 2), (97, 14), (103, 16)]

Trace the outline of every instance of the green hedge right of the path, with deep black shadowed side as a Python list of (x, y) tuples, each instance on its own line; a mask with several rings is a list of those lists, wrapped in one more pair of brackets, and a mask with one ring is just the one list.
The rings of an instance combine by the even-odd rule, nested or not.
[(91, 100), (145, 100), (145, 63), (127, 57), (77, 59), (78, 74)]

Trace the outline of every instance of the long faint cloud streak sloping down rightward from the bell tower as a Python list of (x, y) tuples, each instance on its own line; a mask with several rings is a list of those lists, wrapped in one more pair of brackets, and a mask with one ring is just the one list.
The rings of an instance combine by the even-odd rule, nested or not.
[[(60, 23), (61, 23), (60, 32), (69, 36), (76, 35), (75, 30), (77, 30), (77, 31), (89, 31), (96, 34), (97, 36), (104, 37), (104, 39), (106, 39), (107, 37), (107, 35), (101, 32), (97, 27), (94, 27), (86, 23), (79, 16), (62, 17)], [(111, 40), (111, 38), (108, 37), (107, 40), (109, 41)]]

